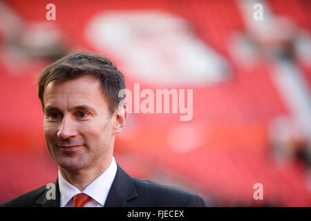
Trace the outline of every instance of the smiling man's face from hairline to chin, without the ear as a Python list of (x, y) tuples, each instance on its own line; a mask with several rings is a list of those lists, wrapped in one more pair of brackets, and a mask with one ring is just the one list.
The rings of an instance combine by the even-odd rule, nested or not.
[(91, 75), (50, 82), (44, 90), (44, 135), (64, 169), (97, 166), (113, 149), (113, 117), (100, 80)]

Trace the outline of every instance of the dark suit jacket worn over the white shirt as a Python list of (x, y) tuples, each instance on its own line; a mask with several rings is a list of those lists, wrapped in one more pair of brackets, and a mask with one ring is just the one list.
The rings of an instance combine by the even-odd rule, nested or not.
[[(59, 185), (58, 179), (54, 182), (56, 186), (56, 199), (48, 200), (46, 193), (49, 189), (41, 186), (38, 189), (25, 193), (17, 198), (0, 204), (1, 207), (59, 207)], [(140, 180), (129, 176), (117, 165), (117, 174), (111, 185), (111, 189), (104, 206), (107, 207), (202, 207), (206, 206), (200, 196), (177, 189), (164, 186), (149, 180)]]

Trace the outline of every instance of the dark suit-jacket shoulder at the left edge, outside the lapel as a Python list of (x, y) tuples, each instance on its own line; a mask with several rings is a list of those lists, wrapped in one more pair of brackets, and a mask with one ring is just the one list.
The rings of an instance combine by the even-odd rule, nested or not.
[(36, 204), (36, 201), (40, 198), (40, 196), (46, 191), (46, 186), (41, 186), (37, 189), (34, 189), (28, 193), (24, 193), (17, 198), (12, 200), (8, 200), (6, 202), (2, 202), (0, 207), (31, 207), (31, 206), (39, 206)]

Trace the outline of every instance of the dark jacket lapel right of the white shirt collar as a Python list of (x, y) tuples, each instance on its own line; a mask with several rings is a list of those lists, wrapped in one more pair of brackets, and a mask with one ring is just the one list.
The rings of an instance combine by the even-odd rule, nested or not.
[(111, 189), (106, 199), (105, 207), (129, 207), (129, 200), (137, 198), (138, 193), (135, 184), (125, 171), (117, 165), (117, 174), (111, 185)]

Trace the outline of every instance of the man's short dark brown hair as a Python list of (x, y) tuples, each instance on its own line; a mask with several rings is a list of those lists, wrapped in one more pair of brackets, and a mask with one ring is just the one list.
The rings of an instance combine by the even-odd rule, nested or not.
[(42, 108), (44, 109), (44, 89), (51, 81), (67, 81), (82, 77), (82, 75), (93, 75), (100, 79), (112, 115), (123, 99), (118, 95), (119, 91), (125, 88), (124, 75), (120, 70), (117, 70), (108, 58), (93, 52), (77, 52), (67, 55), (39, 73), (38, 96)]

